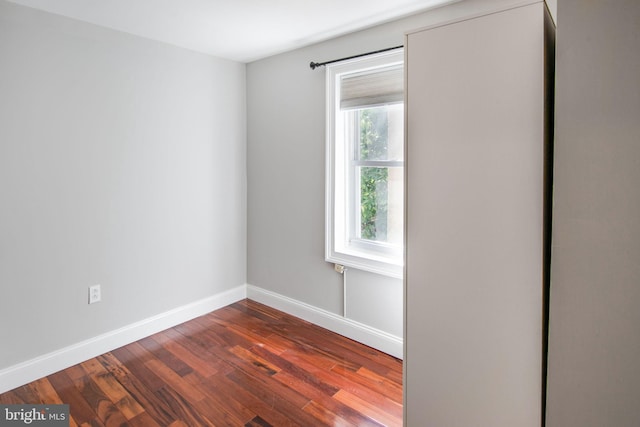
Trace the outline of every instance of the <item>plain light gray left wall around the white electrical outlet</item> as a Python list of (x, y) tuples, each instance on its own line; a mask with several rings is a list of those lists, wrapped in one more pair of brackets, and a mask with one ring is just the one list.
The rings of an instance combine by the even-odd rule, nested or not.
[(0, 369), (246, 282), (245, 112), (243, 64), (0, 1)]

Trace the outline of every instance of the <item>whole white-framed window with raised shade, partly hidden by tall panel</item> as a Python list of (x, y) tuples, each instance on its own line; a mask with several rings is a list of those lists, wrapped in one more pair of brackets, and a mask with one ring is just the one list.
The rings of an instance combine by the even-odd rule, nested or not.
[(327, 68), (326, 260), (402, 276), (403, 52)]

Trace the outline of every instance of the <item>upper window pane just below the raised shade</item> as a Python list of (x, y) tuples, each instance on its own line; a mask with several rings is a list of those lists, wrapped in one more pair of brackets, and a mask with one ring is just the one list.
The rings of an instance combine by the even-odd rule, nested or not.
[(357, 110), (360, 144), (356, 160), (403, 160), (403, 118), (402, 104)]

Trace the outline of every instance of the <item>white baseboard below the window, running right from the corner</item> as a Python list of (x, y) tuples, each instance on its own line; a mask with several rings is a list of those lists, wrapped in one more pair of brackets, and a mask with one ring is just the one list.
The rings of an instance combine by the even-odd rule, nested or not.
[(403, 339), (275, 292), (247, 285), (247, 298), (329, 329), (394, 357), (403, 357)]

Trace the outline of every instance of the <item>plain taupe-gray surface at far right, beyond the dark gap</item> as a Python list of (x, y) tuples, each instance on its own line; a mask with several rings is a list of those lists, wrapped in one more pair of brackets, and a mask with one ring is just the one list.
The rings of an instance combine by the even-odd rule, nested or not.
[(640, 3), (558, 22), (547, 426), (638, 426)]

